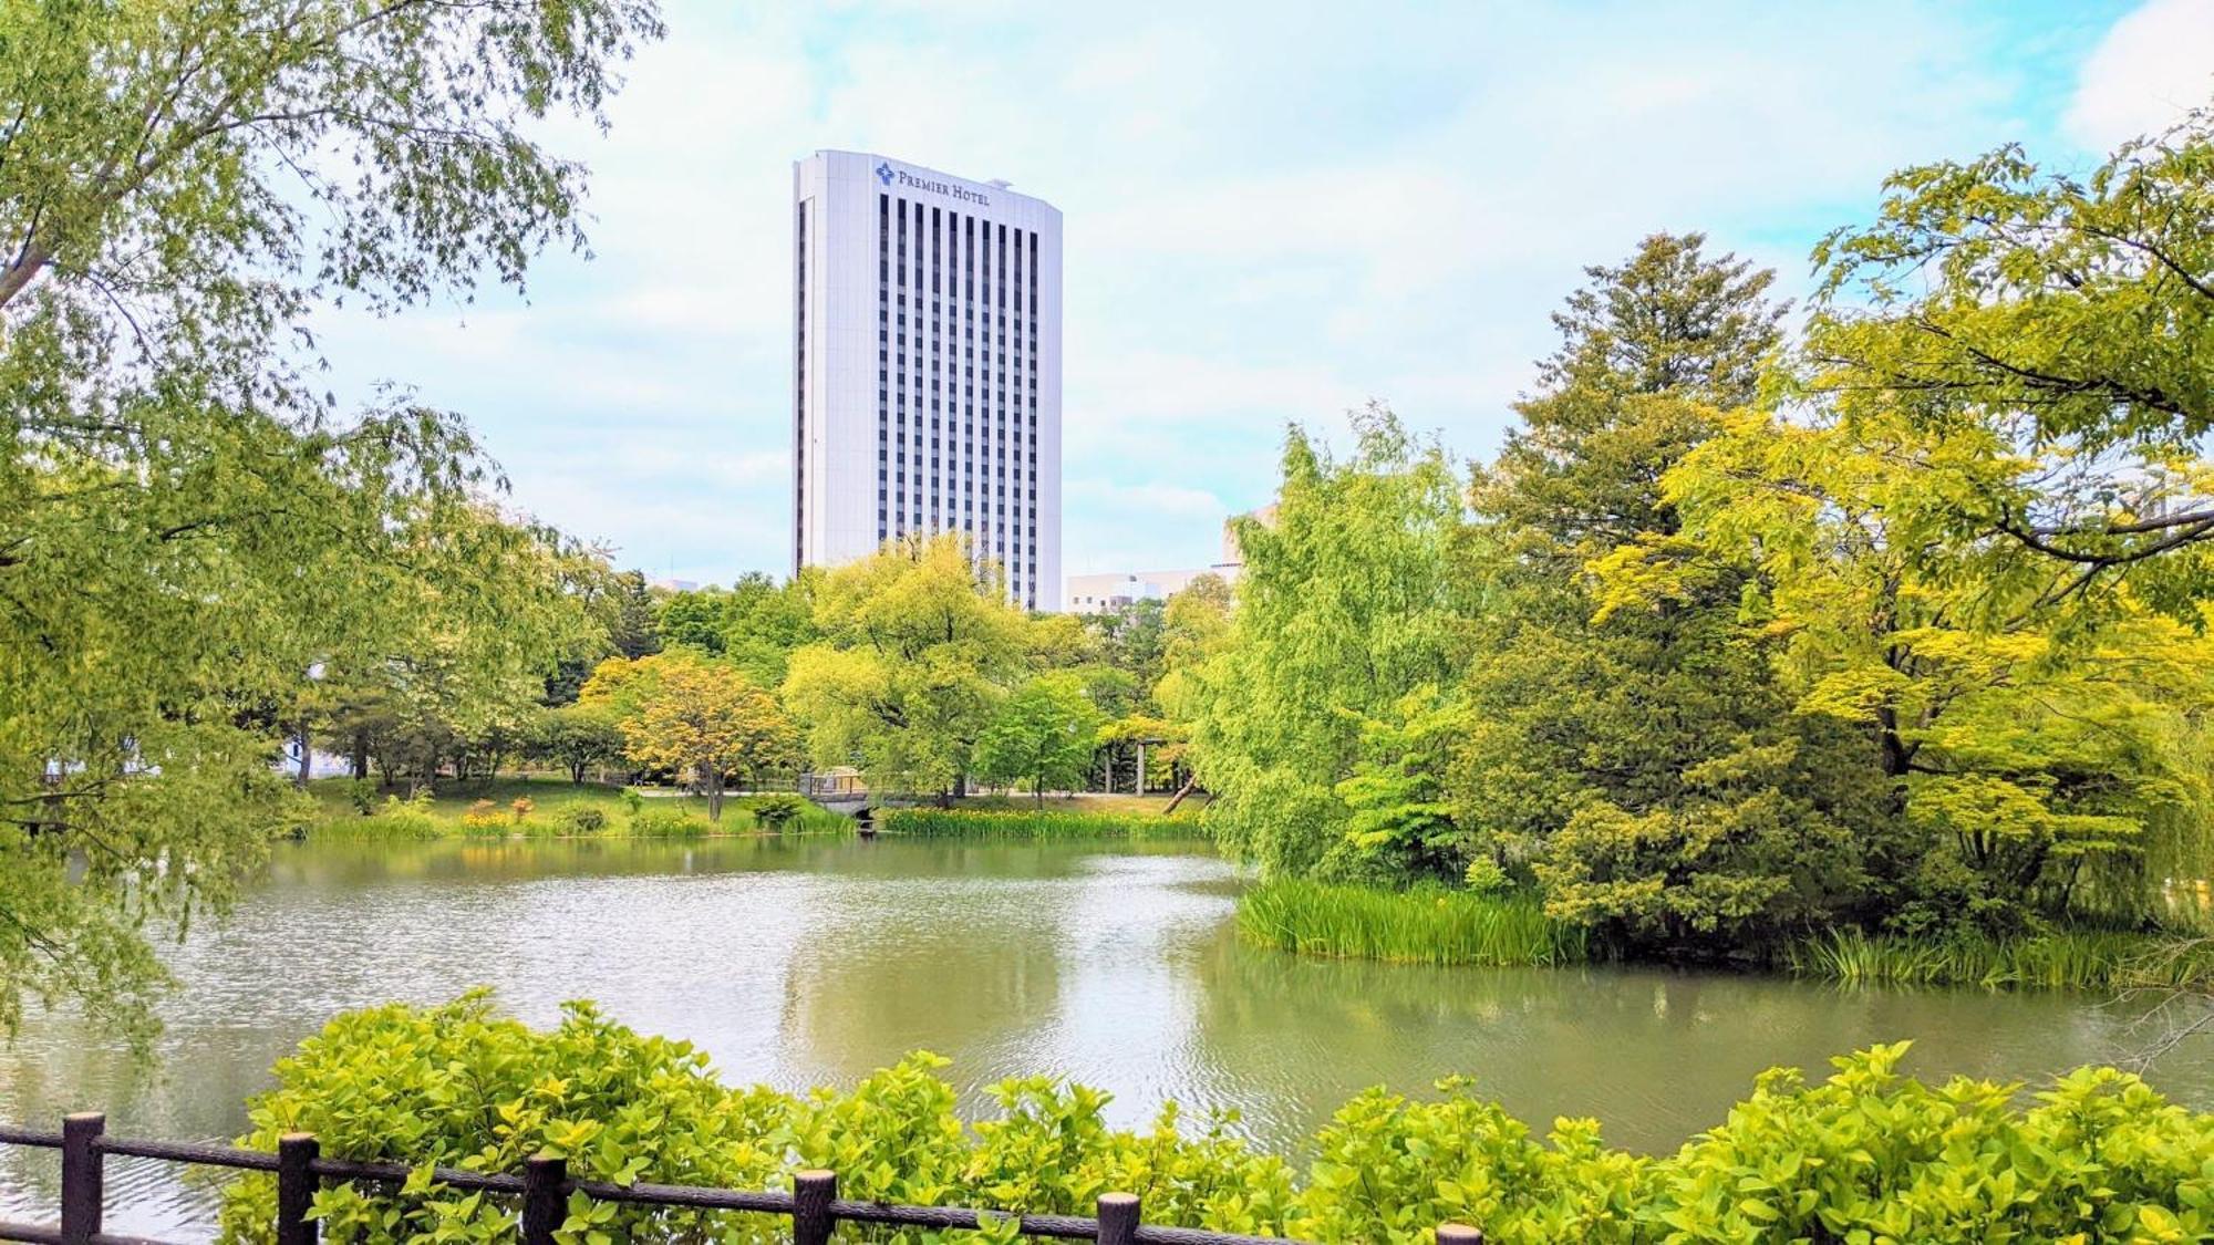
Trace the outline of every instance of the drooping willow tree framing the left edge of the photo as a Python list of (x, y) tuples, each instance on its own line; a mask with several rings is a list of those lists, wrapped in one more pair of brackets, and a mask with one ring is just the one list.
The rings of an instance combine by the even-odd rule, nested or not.
[(272, 724), (425, 634), (538, 660), (542, 532), (458, 419), (339, 412), (308, 315), (520, 284), (576, 246), (642, 0), (0, 7), (0, 1026), (135, 1032), (144, 935), (219, 908), (286, 817)]

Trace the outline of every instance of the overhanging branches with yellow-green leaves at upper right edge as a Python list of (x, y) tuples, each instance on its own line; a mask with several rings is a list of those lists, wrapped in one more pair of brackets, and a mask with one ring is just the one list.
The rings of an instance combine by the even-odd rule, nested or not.
[(2214, 111), (2123, 144), (2088, 177), (2019, 146), (1886, 182), (1877, 222), (1838, 230), (1804, 390), (1880, 401), (1922, 432), (2017, 454), (1946, 498), (1984, 576), (2106, 596), (2130, 580), (2196, 625), (2214, 587)]

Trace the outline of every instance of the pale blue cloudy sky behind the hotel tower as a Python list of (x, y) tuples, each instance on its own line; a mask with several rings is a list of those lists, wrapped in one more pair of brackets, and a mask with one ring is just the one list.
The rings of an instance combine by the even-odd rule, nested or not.
[(649, 578), (790, 567), (790, 191), (817, 148), (1065, 219), (1063, 572), (1204, 565), (1291, 423), (1497, 450), (1587, 264), (1705, 230), (1809, 288), (1889, 171), (2086, 168), (2214, 97), (2214, 0), (664, 0), (525, 295), (328, 312), (341, 394), (469, 419)]

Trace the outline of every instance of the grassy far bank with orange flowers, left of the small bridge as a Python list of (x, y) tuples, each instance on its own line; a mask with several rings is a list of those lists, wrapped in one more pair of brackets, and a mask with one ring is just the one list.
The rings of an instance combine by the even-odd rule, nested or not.
[[(702, 837), (755, 833), (770, 826), (755, 809), (775, 795), (731, 795), (722, 802), (722, 822), (706, 820), (706, 800), (697, 795), (638, 795), (620, 786), (569, 782), (567, 778), (498, 778), (494, 782), (449, 784), (427, 800), (405, 800), (405, 791), (368, 791), (370, 811), (354, 802), (348, 780), (321, 780), (308, 786), (319, 815), (310, 826), (314, 837), (345, 840), (441, 840), (458, 835), (635, 835), (635, 837)], [(523, 802), (518, 806), (518, 802)], [(841, 831), (852, 820), (819, 804), (804, 804), (786, 831)]]

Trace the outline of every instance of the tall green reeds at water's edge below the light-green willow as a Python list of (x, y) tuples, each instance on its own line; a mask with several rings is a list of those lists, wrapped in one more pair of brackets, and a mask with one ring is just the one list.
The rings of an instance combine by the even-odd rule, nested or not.
[(1238, 899), (1238, 930), (1300, 955), (1390, 964), (1579, 964), (1590, 955), (1585, 930), (1554, 922), (1530, 895), (1275, 879)]

